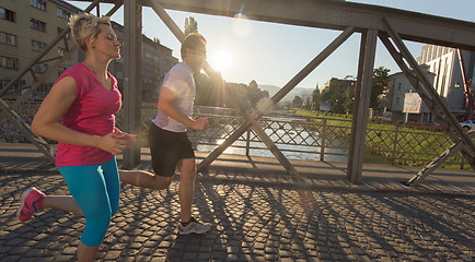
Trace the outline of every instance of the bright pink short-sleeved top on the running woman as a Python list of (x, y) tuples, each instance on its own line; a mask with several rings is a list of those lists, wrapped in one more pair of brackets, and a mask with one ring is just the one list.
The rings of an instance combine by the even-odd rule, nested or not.
[[(121, 106), (117, 80), (107, 72), (112, 81), (108, 91), (95, 74), (84, 64), (78, 63), (67, 69), (56, 81), (71, 76), (76, 81), (76, 100), (62, 116), (61, 123), (76, 131), (92, 135), (105, 135), (114, 132), (115, 114)], [(55, 84), (56, 84), (55, 82)], [(56, 166), (83, 166), (102, 164), (113, 154), (93, 146), (58, 143)]]

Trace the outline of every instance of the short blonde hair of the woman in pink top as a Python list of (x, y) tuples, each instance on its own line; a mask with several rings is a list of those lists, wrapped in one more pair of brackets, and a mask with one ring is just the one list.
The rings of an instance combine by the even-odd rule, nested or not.
[(100, 24), (112, 26), (111, 17), (97, 17), (89, 13), (74, 14), (69, 17), (68, 25), (71, 28), (72, 37), (81, 50), (88, 50), (84, 38), (89, 38), (90, 41), (94, 41), (97, 38), (97, 35), (101, 33)]

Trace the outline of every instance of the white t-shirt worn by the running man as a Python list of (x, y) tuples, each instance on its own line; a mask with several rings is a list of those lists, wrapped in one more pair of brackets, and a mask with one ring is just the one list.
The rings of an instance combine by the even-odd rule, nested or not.
[[(196, 95), (195, 80), (193, 71), (182, 61), (173, 67), (163, 80), (162, 88), (170, 88), (175, 92), (178, 99), (175, 102), (176, 108), (190, 117), (193, 115), (193, 104)], [(172, 132), (186, 132), (186, 126), (169, 117), (159, 109), (155, 119), (152, 120), (157, 127)]]

